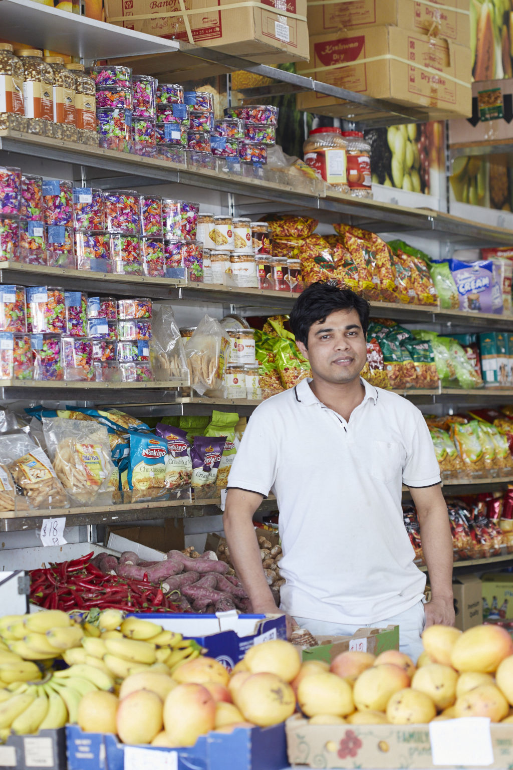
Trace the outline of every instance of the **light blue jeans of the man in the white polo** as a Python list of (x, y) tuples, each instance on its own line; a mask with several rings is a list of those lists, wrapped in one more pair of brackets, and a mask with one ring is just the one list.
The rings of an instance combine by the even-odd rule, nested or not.
[(294, 618), (294, 620), (301, 628), (308, 628), (314, 636), (352, 636), (358, 628), (386, 628), (388, 625), (398, 625), (401, 652), (405, 652), (416, 663), (422, 651), (421, 633), (424, 630), (425, 611), (421, 601), (409, 610), (394, 615), (393, 618), (385, 618), (375, 623), (340, 625), (328, 623), (328, 621), (308, 620), (308, 618)]

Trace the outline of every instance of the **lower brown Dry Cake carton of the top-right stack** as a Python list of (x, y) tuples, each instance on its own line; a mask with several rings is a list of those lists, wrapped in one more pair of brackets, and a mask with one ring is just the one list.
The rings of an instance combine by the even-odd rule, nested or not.
[[(371, 27), (310, 38), (310, 62), (296, 71), (398, 105), (421, 107), (426, 119), (471, 114), (471, 53), (446, 39), (398, 27)], [(346, 115), (348, 105), (321, 93), (298, 94), (298, 109)], [(356, 117), (355, 119), (358, 119)]]

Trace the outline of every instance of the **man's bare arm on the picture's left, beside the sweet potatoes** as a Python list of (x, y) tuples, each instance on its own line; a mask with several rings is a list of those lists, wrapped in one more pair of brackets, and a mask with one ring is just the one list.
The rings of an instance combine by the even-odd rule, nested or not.
[(263, 495), (243, 489), (228, 489), (223, 524), (235, 572), (257, 613), (277, 611), (275, 600), (261, 566), (260, 548), (253, 515)]

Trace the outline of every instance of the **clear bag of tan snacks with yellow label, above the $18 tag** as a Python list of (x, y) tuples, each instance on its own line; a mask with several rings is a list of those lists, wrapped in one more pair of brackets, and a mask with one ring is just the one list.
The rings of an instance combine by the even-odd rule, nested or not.
[(68, 506), (52, 463), (26, 434), (0, 436), (0, 463), (7, 467), (15, 483), (16, 510)]

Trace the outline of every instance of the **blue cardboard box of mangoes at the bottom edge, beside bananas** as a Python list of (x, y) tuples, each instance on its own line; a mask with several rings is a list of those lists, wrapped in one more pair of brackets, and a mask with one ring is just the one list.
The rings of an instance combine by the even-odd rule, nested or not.
[[(68, 770), (124, 770), (128, 767), (175, 770), (281, 770), (287, 765), (285, 725), (236, 728), (201, 735), (190, 748), (128, 746), (115, 735), (66, 727)], [(1, 748), (1, 747), (0, 747)], [(160, 752), (152, 758), (147, 752)], [(165, 752), (167, 757), (162, 757)], [(62, 765), (65, 767), (65, 764)]]

